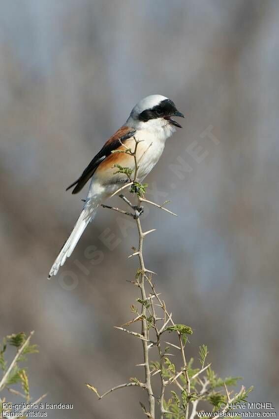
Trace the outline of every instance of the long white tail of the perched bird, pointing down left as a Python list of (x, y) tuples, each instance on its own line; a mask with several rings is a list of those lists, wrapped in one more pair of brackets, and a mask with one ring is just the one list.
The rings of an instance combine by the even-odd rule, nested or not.
[(59, 255), (55, 259), (54, 264), (51, 267), (48, 278), (50, 279), (53, 275), (56, 275), (59, 271), (59, 268), (64, 265), (65, 260), (69, 257), (75, 246), (77, 245), (82, 233), (84, 232), (86, 226), (90, 221), (93, 220), (97, 208), (99, 206), (99, 199), (89, 198), (86, 202), (84, 209), (82, 210), (77, 222), (72, 229), (70, 236), (67, 241), (63, 244), (62, 249), (60, 250)]

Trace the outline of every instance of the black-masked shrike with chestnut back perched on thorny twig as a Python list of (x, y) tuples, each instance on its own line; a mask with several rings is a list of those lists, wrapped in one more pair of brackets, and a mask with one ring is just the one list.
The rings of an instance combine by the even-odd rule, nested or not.
[(182, 128), (172, 119), (173, 116), (185, 118), (176, 105), (165, 96), (150, 95), (140, 100), (131, 110), (126, 123), (105, 142), (82, 175), (67, 187), (66, 190), (73, 188), (72, 194), (77, 194), (91, 179), (83, 210), (50, 269), (49, 279), (57, 275), (66, 258), (72, 254), (99, 205), (126, 181), (126, 175), (117, 173), (115, 168), (120, 166), (135, 170), (135, 159), (125, 150), (133, 149), (132, 144), (137, 142), (136, 160), (140, 162), (137, 180), (142, 182), (158, 162), (165, 141), (176, 131), (175, 127)]

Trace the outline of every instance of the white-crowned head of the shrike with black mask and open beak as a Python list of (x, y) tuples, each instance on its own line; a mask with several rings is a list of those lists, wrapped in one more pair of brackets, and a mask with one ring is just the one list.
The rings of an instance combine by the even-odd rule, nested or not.
[(185, 118), (176, 105), (165, 96), (151, 95), (139, 101), (132, 109), (127, 125), (136, 129), (166, 130), (170, 135), (174, 127), (182, 126), (172, 116)]

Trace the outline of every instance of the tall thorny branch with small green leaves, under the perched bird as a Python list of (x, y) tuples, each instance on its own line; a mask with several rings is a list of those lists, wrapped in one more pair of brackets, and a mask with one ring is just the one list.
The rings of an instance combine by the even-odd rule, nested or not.
[[(190, 367), (190, 363), (192, 363), (192, 360), (189, 361), (190, 363), (189, 362), (187, 363), (185, 347), (186, 347), (186, 342), (187, 342), (187, 335), (192, 334), (192, 330), (190, 327), (186, 325), (177, 324), (174, 322), (172, 318), (172, 314), (169, 313), (166, 308), (165, 302), (161, 299), (160, 294), (157, 293), (155, 290), (155, 285), (152, 279), (152, 275), (155, 274), (155, 272), (148, 270), (145, 266), (144, 256), (143, 256), (144, 239), (149, 233), (152, 233), (153, 231), (155, 231), (155, 229), (143, 232), (141, 221), (140, 221), (140, 215), (143, 212), (143, 208), (141, 204), (145, 203), (145, 204), (153, 205), (156, 208), (164, 210), (175, 216), (177, 216), (177, 214), (164, 208), (164, 205), (166, 205), (168, 202), (165, 202), (162, 205), (159, 205), (145, 199), (144, 197), (145, 189), (140, 188), (140, 186), (142, 185), (139, 183), (137, 179), (137, 175), (138, 175), (139, 167), (140, 167), (140, 161), (143, 155), (137, 161), (136, 152), (137, 152), (139, 141), (137, 141), (135, 138), (134, 140), (135, 140), (134, 151), (131, 151), (130, 148), (125, 146), (125, 151), (123, 152), (129, 154), (130, 156), (134, 158), (135, 170), (131, 171), (129, 168), (119, 168), (121, 173), (125, 173), (127, 175), (128, 183), (122, 186), (120, 189), (118, 189), (118, 191), (116, 191), (113, 194), (113, 195), (116, 195), (117, 193), (122, 191), (124, 188), (130, 186), (131, 187), (130, 192), (133, 194), (134, 193), (137, 194), (137, 205), (133, 205), (123, 194), (119, 196), (125, 202), (125, 204), (127, 204), (129, 208), (132, 209), (134, 212), (127, 212), (116, 207), (109, 207), (105, 205), (103, 205), (103, 207), (121, 212), (122, 214), (127, 215), (127, 216), (132, 216), (135, 219), (135, 223), (138, 230), (138, 248), (136, 249), (133, 247), (133, 253), (128, 257), (137, 256), (139, 260), (139, 268), (137, 270), (135, 280), (131, 282), (140, 289), (140, 298), (138, 298), (137, 301), (141, 304), (141, 310), (138, 311), (138, 309), (132, 305), (131, 309), (132, 309), (132, 312), (136, 314), (136, 317), (128, 321), (127, 323), (125, 323), (123, 326), (130, 326), (136, 321), (141, 321), (141, 333), (127, 330), (124, 327), (116, 327), (116, 326), (115, 327), (141, 340), (142, 348), (143, 348), (143, 362), (137, 365), (144, 367), (145, 380), (144, 382), (141, 382), (137, 378), (130, 379), (131, 380), (130, 383), (117, 385), (111, 388), (110, 390), (106, 391), (101, 396), (98, 394), (95, 387), (93, 387), (90, 384), (87, 384), (87, 386), (91, 388), (97, 394), (99, 399), (102, 399), (107, 394), (120, 388), (129, 387), (129, 386), (139, 386), (143, 388), (147, 392), (149, 406), (148, 406), (148, 409), (146, 409), (145, 406), (141, 402), (140, 402), (140, 405), (145, 415), (150, 419), (155, 419), (155, 418), (164, 419), (165, 417), (167, 417), (167, 419), (198, 418), (197, 416), (198, 404), (201, 401), (204, 401), (205, 399), (209, 401), (210, 403), (212, 403), (212, 405), (214, 406), (213, 409), (215, 409), (213, 410), (214, 412), (216, 411), (218, 407), (218, 403), (220, 405), (221, 401), (225, 400), (227, 403), (225, 405), (225, 408), (222, 410), (222, 412), (223, 413), (227, 412), (227, 410), (229, 409), (229, 403), (238, 400), (238, 398), (244, 399), (245, 397), (247, 397), (248, 392), (251, 391), (251, 389), (246, 391), (245, 388), (242, 387), (238, 393), (235, 393), (234, 397), (230, 398), (229, 392), (227, 390), (227, 387), (224, 381), (223, 384), (224, 384), (225, 394), (223, 394), (222, 391), (217, 391), (215, 389), (216, 384), (222, 381), (221, 379), (217, 379), (216, 374), (214, 373), (214, 371), (211, 370), (211, 364), (207, 364), (206, 366), (204, 366), (205, 358), (207, 355), (207, 348), (205, 346), (203, 346), (204, 347), (203, 348), (204, 350), (202, 352), (203, 355), (201, 355), (201, 352), (200, 352), (200, 356), (203, 358), (202, 360), (200, 360), (201, 365), (202, 365), (201, 368), (193, 370)], [(148, 150), (146, 150), (145, 152), (147, 151)], [(134, 172), (133, 179), (131, 178), (132, 172)], [(146, 289), (147, 284), (150, 286), (149, 293), (147, 292), (147, 289)], [(160, 314), (157, 314), (158, 308), (161, 310)], [(152, 329), (155, 333), (155, 338), (151, 338), (150, 331)], [(163, 349), (162, 335), (166, 333), (167, 331), (169, 332), (175, 331), (177, 333), (178, 345), (175, 345), (170, 342), (165, 342), (167, 345), (169, 345), (169, 347), (166, 347)], [(152, 362), (150, 359), (150, 349), (154, 347), (156, 347), (158, 351), (157, 363)], [(182, 358), (182, 367), (180, 368), (180, 370), (178, 370), (176, 366), (169, 359), (169, 357), (172, 356), (172, 354), (169, 353), (170, 347), (174, 349), (178, 349), (180, 351), (181, 358)], [(201, 350), (201, 347), (200, 347), (200, 350)], [(155, 375), (157, 374), (160, 377), (160, 391), (159, 391), (159, 394), (155, 395), (155, 392), (153, 390), (153, 385), (154, 385), (153, 377), (155, 377)], [(217, 380), (219, 380), (219, 382)], [(229, 379), (227, 379), (227, 382), (229, 382)], [(233, 383), (233, 379), (231, 379), (231, 383)], [(167, 392), (168, 387), (172, 384), (175, 384), (176, 387), (180, 390), (181, 396), (178, 397), (178, 395), (174, 391), (171, 391), (171, 394), (173, 395), (173, 397), (167, 400), (166, 392)], [(168, 390), (168, 394), (170, 394), (169, 390)], [(191, 408), (191, 411), (189, 412), (190, 408)], [(215, 416), (215, 417), (218, 418), (219, 416), (220, 415)]]

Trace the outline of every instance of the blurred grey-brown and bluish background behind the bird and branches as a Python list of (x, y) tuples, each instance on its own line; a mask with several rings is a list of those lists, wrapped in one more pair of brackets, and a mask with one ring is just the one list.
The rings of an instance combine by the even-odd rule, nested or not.
[(136, 230), (99, 210), (47, 275), (87, 194), (65, 188), (156, 93), (186, 119), (146, 179), (179, 214), (146, 208), (146, 264), (194, 329), (188, 356), (207, 344), (218, 374), (278, 408), (278, 20), (269, 0), (1, 1), (0, 336), (35, 330), (32, 395), (74, 403), (48, 416), (142, 418), (141, 390), (98, 402), (84, 385), (142, 373), (138, 341), (113, 328), (137, 297)]

